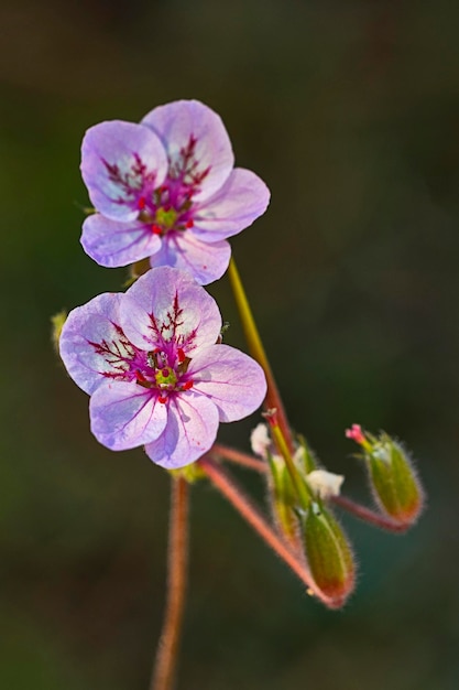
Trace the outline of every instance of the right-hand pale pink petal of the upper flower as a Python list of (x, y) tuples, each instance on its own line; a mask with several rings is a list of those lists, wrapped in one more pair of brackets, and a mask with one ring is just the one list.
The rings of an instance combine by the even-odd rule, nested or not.
[(231, 237), (252, 225), (269, 203), (264, 182), (250, 170), (236, 168), (221, 190), (197, 209), (193, 231), (209, 242)]

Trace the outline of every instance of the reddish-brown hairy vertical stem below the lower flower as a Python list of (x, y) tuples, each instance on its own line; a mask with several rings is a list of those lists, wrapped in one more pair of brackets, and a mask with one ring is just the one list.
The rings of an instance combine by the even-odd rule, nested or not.
[(150, 690), (172, 690), (177, 667), (188, 565), (188, 484), (181, 476), (171, 478), (168, 539), (166, 610)]

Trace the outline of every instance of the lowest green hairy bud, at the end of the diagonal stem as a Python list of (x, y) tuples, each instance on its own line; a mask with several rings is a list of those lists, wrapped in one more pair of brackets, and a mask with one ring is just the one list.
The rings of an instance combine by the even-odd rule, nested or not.
[(340, 606), (353, 590), (356, 565), (343, 530), (321, 502), (312, 502), (306, 513), (304, 543), (314, 581)]

